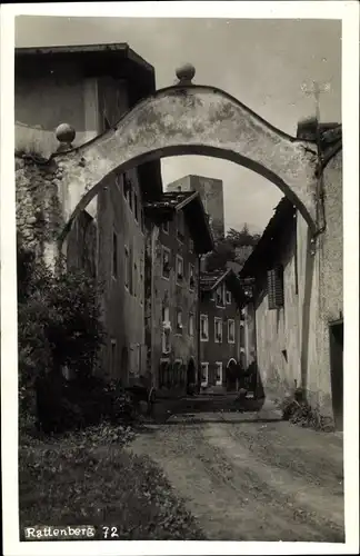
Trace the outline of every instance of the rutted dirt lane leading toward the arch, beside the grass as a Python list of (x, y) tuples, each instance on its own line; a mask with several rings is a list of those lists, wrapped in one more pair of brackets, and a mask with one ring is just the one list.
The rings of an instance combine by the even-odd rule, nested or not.
[(342, 439), (262, 414), (198, 414), (131, 445), (164, 470), (211, 540), (343, 542)]

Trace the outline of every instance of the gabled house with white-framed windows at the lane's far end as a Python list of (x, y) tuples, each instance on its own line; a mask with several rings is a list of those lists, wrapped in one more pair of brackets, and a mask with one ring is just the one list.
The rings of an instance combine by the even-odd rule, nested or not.
[(200, 290), (201, 388), (236, 389), (232, 369), (244, 368), (240, 280), (231, 269), (201, 272)]

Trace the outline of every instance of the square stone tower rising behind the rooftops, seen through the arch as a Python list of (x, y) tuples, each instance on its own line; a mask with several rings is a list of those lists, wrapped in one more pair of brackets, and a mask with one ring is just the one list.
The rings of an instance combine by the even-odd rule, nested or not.
[(221, 179), (184, 176), (167, 186), (168, 191), (199, 191), (214, 240), (224, 235), (223, 187)]

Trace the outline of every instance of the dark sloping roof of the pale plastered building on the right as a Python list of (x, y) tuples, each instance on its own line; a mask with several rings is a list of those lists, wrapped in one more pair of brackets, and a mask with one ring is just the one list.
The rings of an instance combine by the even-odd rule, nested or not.
[(282, 197), (261, 238), (246, 260), (239, 274), (240, 278), (256, 276), (259, 270), (267, 268), (276, 254), (279, 252), (280, 242), (288, 237), (284, 230), (289, 224), (293, 222), (294, 214), (296, 207), (287, 197)]

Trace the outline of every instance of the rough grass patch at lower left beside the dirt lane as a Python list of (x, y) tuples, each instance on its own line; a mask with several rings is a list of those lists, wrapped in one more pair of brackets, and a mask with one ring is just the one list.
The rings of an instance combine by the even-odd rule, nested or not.
[(20, 530), (36, 524), (116, 526), (123, 540), (204, 536), (161, 469), (123, 448), (129, 427), (28, 439), (19, 450)]

